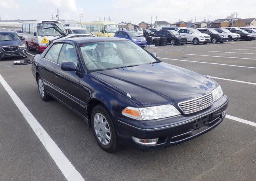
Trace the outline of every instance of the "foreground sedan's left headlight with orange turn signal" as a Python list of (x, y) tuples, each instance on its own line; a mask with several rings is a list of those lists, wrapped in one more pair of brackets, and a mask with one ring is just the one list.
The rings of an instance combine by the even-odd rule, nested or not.
[(126, 107), (122, 114), (136, 120), (154, 120), (180, 115), (180, 112), (172, 105), (152, 106), (147, 108)]

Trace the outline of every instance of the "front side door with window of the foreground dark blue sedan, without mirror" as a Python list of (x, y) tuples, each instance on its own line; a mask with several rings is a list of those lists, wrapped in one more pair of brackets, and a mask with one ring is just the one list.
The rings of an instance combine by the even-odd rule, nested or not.
[(58, 63), (54, 69), (54, 87), (57, 97), (66, 103), (74, 110), (80, 112), (80, 97), (79, 97), (79, 82), (80, 76), (77, 71), (63, 71), (61, 64), (63, 62), (73, 62), (78, 72), (80, 67), (78, 65), (78, 57), (75, 46), (72, 44), (64, 43), (60, 51)]

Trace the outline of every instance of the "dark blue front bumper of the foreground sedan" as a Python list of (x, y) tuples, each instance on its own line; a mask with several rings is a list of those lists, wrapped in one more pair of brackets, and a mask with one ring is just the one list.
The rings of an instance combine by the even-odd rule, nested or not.
[[(223, 115), (222, 113), (226, 110), (227, 106), (228, 98), (222, 96), (212, 106), (192, 116), (180, 115), (150, 121), (132, 121), (119, 118), (116, 129), (118, 140), (120, 144), (139, 150), (158, 150), (175, 146), (197, 138), (218, 126), (224, 120), (225, 114)], [(199, 121), (199, 118), (205, 119), (206, 116), (209, 116), (206, 124), (196, 129), (195, 124)], [(159, 140), (156, 145), (145, 146), (135, 143), (132, 140), (132, 136), (142, 139), (159, 138)]]

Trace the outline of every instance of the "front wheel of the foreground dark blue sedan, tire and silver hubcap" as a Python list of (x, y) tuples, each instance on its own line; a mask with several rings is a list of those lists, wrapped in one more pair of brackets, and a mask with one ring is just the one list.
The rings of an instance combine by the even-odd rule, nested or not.
[(116, 128), (110, 114), (101, 104), (92, 110), (92, 129), (95, 139), (103, 150), (114, 152), (118, 149)]

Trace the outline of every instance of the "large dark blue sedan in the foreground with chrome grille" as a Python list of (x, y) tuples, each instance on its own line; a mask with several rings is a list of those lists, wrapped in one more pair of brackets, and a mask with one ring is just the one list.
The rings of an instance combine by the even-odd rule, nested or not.
[(54, 41), (32, 61), (42, 100), (79, 114), (99, 146), (168, 148), (215, 128), (228, 98), (218, 83), (158, 60), (122, 38)]

